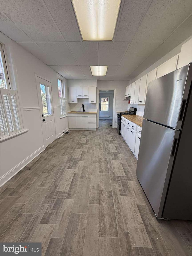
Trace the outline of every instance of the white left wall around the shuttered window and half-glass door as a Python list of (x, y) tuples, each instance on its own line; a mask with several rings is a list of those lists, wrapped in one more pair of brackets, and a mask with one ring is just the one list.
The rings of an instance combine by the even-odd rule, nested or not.
[[(42, 117), (39, 109), (35, 109), (39, 107), (35, 73), (52, 81), (56, 134), (68, 128), (68, 117), (60, 119), (57, 73), (2, 33), (0, 41), (6, 47), (11, 84), (18, 90), (24, 128), (29, 129), (24, 134), (0, 142), (2, 185), (44, 149)], [(31, 110), (23, 111), (23, 108)]]

